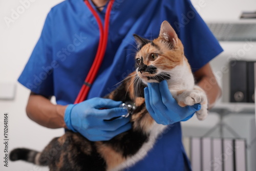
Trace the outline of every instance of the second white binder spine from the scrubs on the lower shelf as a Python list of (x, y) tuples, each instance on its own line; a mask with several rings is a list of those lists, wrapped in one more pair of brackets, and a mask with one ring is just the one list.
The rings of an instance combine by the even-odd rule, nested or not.
[(200, 138), (191, 138), (191, 168), (201, 170), (201, 141)]

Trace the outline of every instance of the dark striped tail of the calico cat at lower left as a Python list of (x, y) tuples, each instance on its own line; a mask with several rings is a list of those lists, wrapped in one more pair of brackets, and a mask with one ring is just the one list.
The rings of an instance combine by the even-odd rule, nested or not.
[(24, 160), (37, 165), (46, 166), (48, 162), (41, 160), (41, 153), (28, 148), (15, 148), (10, 153), (10, 160)]

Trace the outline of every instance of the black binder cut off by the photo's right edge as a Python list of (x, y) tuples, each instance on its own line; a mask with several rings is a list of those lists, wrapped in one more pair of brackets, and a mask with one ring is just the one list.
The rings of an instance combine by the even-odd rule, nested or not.
[(254, 102), (254, 61), (247, 62), (247, 102)]

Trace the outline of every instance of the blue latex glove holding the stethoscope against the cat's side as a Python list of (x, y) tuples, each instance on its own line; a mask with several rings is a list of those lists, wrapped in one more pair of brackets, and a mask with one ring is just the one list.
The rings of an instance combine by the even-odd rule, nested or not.
[[(130, 118), (120, 117), (127, 113), (126, 109), (118, 108), (121, 103), (92, 98), (78, 104), (69, 104), (64, 120), (69, 130), (79, 132), (90, 141), (107, 141), (131, 129)], [(114, 117), (119, 118), (109, 121)]]

